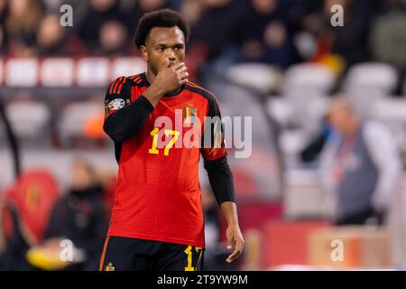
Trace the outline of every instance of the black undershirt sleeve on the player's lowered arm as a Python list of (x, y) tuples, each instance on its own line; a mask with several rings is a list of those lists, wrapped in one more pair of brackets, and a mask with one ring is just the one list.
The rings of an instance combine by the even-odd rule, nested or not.
[(227, 157), (224, 156), (213, 161), (204, 160), (203, 163), (218, 206), (225, 201), (235, 202), (233, 173), (228, 165)]

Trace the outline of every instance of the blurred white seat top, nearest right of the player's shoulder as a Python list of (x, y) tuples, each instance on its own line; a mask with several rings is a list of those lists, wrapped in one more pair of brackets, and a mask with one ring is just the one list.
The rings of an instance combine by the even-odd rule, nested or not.
[(235, 64), (226, 71), (227, 79), (248, 88), (269, 93), (279, 89), (281, 70), (262, 63)]

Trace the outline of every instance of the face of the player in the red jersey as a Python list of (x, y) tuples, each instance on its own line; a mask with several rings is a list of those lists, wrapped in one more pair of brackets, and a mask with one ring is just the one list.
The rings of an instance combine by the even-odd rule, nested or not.
[(145, 47), (141, 47), (143, 59), (153, 74), (158, 74), (166, 61), (171, 66), (185, 59), (185, 37), (179, 27), (154, 27), (148, 34)]

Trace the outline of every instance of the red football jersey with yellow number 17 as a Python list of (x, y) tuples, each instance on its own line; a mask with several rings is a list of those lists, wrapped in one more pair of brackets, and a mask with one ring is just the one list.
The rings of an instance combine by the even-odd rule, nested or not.
[[(149, 85), (145, 73), (115, 79), (106, 93), (106, 117)], [(216, 116), (213, 94), (188, 82), (161, 98), (136, 134), (115, 144), (119, 169), (108, 236), (205, 246), (198, 162), (200, 154), (207, 160), (226, 156), (219, 123), (206, 127), (205, 117)], [(205, 134), (216, 145), (202, 148)]]

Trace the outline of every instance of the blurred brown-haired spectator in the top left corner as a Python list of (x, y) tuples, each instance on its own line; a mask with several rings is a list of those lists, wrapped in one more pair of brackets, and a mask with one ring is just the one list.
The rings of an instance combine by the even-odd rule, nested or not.
[(35, 34), (42, 18), (39, 0), (14, 0), (8, 2), (5, 16), (5, 33), (11, 56), (32, 55)]

